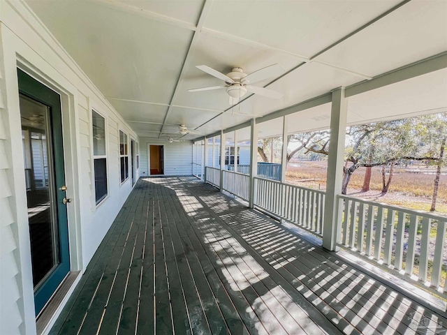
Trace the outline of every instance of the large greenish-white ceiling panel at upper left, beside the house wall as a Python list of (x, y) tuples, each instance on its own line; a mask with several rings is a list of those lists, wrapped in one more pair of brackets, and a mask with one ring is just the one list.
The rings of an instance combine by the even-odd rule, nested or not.
[(169, 103), (193, 33), (108, 2), (28, 1), (105, 96)]

